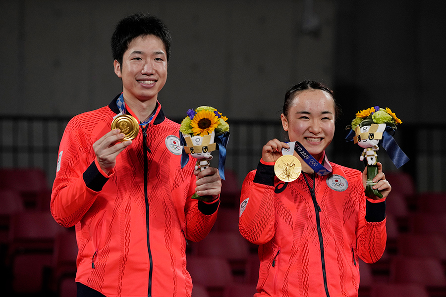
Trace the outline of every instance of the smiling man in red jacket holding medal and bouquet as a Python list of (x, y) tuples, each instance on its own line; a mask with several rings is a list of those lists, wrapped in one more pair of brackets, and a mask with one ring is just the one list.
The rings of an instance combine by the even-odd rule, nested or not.
[(181, 150), (168, 145), (180, 126), (158, 101), (170, 43), (156, 17), (121, 20), (111, 49), (122, 93), (71, 119), (60, 142), (51, 211), (76, 228), (77, 296), (191, 296), (185, 247), (211, 230), (221, 180), (213, 167), (181, 169)]

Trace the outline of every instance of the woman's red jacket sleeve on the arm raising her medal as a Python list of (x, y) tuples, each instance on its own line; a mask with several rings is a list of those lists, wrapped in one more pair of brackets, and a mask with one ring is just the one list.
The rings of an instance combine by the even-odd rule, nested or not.
[(256, 245), (269, 242), (275, 234), (274, 163), (259, 162), (246, 176), (240, 197), (240, 234)]

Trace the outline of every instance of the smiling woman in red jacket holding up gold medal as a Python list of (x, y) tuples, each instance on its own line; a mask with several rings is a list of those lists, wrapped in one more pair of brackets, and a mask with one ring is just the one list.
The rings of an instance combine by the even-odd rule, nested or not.
[[(259, 245), (256, 297), (358, 296), (358, 259), (373, 263), (384, 252), (390, 184), (379, 164), (374, 189), (383, 198), (366, 197), (367, 169), (328, 160), (336, 114), (333, 92), (324, 85), (291, 87), (280, 116), (291, 143), (269, 141), (243, 183), (239, 229)], [(283, 154), (290, 156), (278, 161)], [(292, 155), (302, 167), (293, 181), (299, 162)], [(277, 172), (276, 162), (283, 165)]]

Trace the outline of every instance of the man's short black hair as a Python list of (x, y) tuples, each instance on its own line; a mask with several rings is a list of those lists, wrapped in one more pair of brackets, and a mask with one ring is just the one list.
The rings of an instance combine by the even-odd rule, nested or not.
[(132, 40), (140, 36), (155, 35), (164, 44), (166, 48), (167, 62), (170, 58), (170, 44), (172, 37), (166, 25), (157, 17), (135, 13), (129, 15), (116, 24), (113, 35), (111, 36), (111, 53), (113, 59), (122, 65), (122, 57), (128, 49)]

